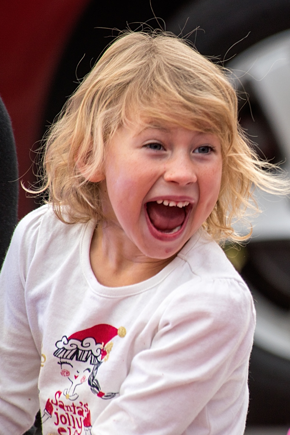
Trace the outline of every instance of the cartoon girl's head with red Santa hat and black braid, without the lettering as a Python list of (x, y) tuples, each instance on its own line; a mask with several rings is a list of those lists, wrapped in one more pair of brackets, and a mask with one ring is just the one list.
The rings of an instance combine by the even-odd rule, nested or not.
[(99, 366), (107, 361), (112, 350), (112, 338), (116, 335), (123, 338), (126, 335), (124, 327), (101, 324), (78, 331), (67, 338), (63, 336), (56, 342), (57, 350), (54, 356), (59, 358), (61, 375), (66, 376), (71, 385), (63, 391), (69, 400), (76, 400), (79, 395), (76, 387), (88, 380), (91, 391), (102, 399), (111, 399), (118, 393), (103, 393), (96, 378)]

